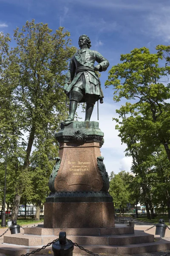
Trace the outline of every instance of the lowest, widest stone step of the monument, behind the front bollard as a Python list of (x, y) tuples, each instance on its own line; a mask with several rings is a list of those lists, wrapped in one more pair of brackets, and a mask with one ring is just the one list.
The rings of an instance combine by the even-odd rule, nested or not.
[[(93, 253), (112, 253), (117, 255), (123, 254), (134, 254), (134, 253), (146, 253), (170, 249), (170, 242), (163, 239), (157, 239), (158, 241), (152, 243), (142, 243), (142, 244), (129, 244), (129, 245), (81, 245), (85, 249), (92, 251)], [(16, 244), (0, 244), (0, 253), (11, 256), (20, 256), (21, 254), (31, 253), (33, 250), (37, 250), (40, 246), (23, 246)], [(52, 247), (46, 247), (44, 250), (40, 250), (37, 254), (49, 254), (52, 252)], [(78, 247), (74, 247), (73, 253), (85, 253), (85, 251), (80, 250)], [(74, 255), (74, 254), (73, 254)], [(87, 256), (89, 254), (87, 253)]]

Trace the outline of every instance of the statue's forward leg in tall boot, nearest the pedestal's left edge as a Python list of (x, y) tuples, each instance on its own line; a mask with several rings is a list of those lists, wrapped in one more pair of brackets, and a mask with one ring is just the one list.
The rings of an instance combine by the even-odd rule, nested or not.
[(77, 103), (82, 99), (83, 94), (77, 91), (70, 91), (70, 105), (69, 105), (69, 116), (65, 119), (65, 122), (74, 121), (74, 115), (77, 109)]

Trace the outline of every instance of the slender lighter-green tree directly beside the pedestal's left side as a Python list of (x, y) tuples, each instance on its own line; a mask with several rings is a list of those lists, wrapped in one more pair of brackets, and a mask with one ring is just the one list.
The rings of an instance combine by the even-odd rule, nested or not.
[(53, 134), (46, 134), (38, 143), (31, 155), (31, 171), (34, 197), (31, 202), (36, 205), (36, 220), (40, 220), (40, 207), (49, 195), (48, 181), (54, 166), (54, 158), (58, 155), (58, 146), (55, 145)]

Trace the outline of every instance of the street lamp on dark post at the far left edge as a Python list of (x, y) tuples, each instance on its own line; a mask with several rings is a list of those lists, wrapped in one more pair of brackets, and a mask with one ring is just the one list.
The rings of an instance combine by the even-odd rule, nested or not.
[[(0, 146), (0, 149), (2, 146)], [(11, 149), (14, 149), (14, 147), (11, 147)], [(6, 227), (6, 210), (5, 210), (5, 205), (6, 205), (6, 169), (7, 169), (7, 155), (9, 152), (5, 153), (5, 159), (3, 157), (0, 158), (0, 163), (5, 162), (5, 184), (4, 184), (4, 197), (3, 197), (3, 212), (2, 212), (2, 221), (1, 221), (1, 227)]]

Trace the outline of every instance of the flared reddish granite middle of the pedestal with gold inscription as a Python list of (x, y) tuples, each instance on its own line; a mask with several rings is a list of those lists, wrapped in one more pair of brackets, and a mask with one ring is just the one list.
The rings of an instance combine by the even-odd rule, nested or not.
[(100, 191), (102, 177), (96, 161), (96, 154), (100, 154), (99, 143), (88, 143), (88, 147), (64, 143), (62, 147), (62, 161), (54, 185), (56, 191)]

